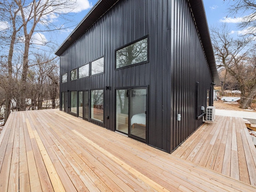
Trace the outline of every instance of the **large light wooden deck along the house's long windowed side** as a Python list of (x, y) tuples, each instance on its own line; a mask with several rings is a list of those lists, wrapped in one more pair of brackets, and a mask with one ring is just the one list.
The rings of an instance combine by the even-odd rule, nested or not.
[(0, 192), (7, 191), (256, 188), (59, 110), (38, 110), (12, 112), (0, 134)]

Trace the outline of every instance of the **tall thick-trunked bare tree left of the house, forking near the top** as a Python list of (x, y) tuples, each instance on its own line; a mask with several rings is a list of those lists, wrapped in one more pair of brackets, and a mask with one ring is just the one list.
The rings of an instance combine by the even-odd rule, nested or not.
[[(23, 61), (22, 61), (22, 76), (21, 83), (22, 89), (20, 90), (20, 109), (26, 110), (26, 89), (27, 89), (27, 76), (29, 66), (29, 49), (32, 40), (32, 35), (34, 32), (38, 31), (36, 29), (39, 23), (46, 26), (45, 30), (54, 30), (49, 29), (50, 20), (48, 20), (47, 15), (54, 13), (62, 13), (63, 8), (73, 6), (72, 1), (69, 0), (33, 0), (31, 3), (26, 4), (26, 0), (14, 0), (20, 9), (20, 16), (23, 22), (23, 33), (24, 33), (24, 52), (23, 52)], [(47, 23), (47, 24), (46, 24)], [(44, 30), (44, 31), (45, 31)]]

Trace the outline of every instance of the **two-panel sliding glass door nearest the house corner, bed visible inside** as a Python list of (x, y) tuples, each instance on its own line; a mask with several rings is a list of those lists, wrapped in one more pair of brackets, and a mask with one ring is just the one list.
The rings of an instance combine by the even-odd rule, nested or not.
[(116, 90), (116, 130), (146, 142), (147, 89)]

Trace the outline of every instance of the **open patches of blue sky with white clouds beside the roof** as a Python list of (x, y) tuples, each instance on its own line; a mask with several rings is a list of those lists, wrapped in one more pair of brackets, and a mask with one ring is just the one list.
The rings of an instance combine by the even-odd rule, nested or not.
[[(79, 22), (84, 18), (84, 16), (86, 16), (88, 11), (96, 4), (97, 1), (98, 0), (76, 0), (78, 6), (75, 10), (72, 10), (70, 13), (72, 16), (69, 17), (71, 20), (73, 20), (72, 28), (58, 31), (53, 36), (50, 36), (50, 34), (47, 32), (34, 33), (32, 37), (33, 42), (40, 45), (40, 42), (54, 41), (56, 42), (57, 46), (60, 46), (60, 44), (64, 42), (75, 26), (79, 24)], [(223, 22), (226, 22), (232, 34), (242, 34), (242, 29), (238, 29), (236, 24), (241, 20), (242, 16), (248, 15), (249, 13), (244, 13), (243, 15), (237, 14), (236, 16), (229, 15), (227, 11), (229, 0), (203, 0), (203, 2), (209, 28), (213, 26), (217, 27)], [(63, 12), (65, 12), (65, 10), (63, 10)], [(56, 26), (64, 23), (63, 20), (57, 18), (57, 14), (52, 14), (52, 16), (53, 17), (50, 19), (52, 22), (54, 22), (54, 24), (56, 23)], [(0, 31), (8, 26), (11, 26), (11, 24), (8, 24), (6, 21), (0, 21)]]

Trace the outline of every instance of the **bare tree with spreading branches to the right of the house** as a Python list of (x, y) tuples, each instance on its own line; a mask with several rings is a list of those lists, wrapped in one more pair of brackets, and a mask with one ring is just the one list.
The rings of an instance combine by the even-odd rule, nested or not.
[[(241, 108), (250, 106), (256, 96), (256, 73), (253, 65), (249, 63), (254, 56), (250, 38), (234, 39), (230, 36), (226, 24), (221, 28), (212, 28), (212, 45), (218, 68), (225, 68), (228, 74), (234, 77), (241, 91)], [(250, 72), (250, 78), (248, 78)]]

